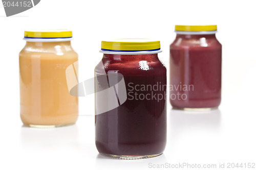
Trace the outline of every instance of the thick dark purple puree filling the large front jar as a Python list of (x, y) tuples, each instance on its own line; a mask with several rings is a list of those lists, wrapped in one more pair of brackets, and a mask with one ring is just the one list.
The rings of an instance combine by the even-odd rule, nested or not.
[[(104, 54), (102, 74), (116, 70), (123, 75), (127, 100), (119, 107), (95, 116), (96, 147), (99, 153), (145, 156), (161, 154), (166, 143), (166, 100), (151, 98), (152, 94), (166, 95), (166, 68), (157, 54)], [(130, 83), (130, 84), (129, 84)], [(141, 90), (144, 85), (158, 84), (157, 90)], [(136, 89), (140, 89), (137, 91)], [(160, 90), (160, 86), (161, 89)], [(156, 89), (156, 88), (155, 88)], [(130, 93), (129, 93), (130, 92)], [(148, 99), (135, 99), (135, 92)], [(143, 95), (142, 95), (143, 94)], [(137, 98), (138, 98), (137, 95)], [(96, 107), (97, 99), (96, 99)]]

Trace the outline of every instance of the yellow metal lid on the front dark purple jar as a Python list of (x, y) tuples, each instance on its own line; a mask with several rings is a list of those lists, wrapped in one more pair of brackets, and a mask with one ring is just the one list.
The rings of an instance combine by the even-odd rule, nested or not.
[(159, 51), (160, 41), (144, 38), (113, 39), (101, 41), (101, 50), (112, 52)]

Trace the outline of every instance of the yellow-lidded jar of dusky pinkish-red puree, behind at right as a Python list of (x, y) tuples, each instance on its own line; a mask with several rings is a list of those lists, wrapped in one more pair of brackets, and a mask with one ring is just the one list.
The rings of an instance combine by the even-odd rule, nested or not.
[(217, 26), (175, 26), (170, 44), (170, 104), (184, 110), (210, 110), (221, 103), (222, 45)]

